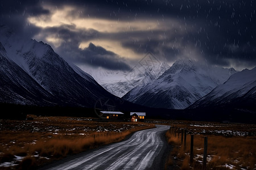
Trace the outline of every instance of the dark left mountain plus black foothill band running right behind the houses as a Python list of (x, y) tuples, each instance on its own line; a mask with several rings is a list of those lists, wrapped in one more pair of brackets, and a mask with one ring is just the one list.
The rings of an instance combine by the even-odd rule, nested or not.
[[(255, 122), (255, 107), (248, 97), (239, 102), (249, 105), (239, 109), (224, 105), (179, 110), (133, 104), (110, 94), (92, 76), (64, 61), (51, 46), (20, 39), (7, 27), (0, 28), (2, 118), (26, 118), (26, 114), (97, 117), (96, 112), (102, 109), (121, 111), (126, 118), (135, 111), (146, 112), (146, 118)], [(253, 97), (251, 102), (255, 101), (253, 90), (246, 94)]]

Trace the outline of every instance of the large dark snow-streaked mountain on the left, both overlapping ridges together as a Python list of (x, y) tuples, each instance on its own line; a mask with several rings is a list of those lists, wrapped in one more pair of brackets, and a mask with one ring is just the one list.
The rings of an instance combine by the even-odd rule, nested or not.
[[(19, 88), (23, 87), (28, 92), (31, 92), (30, 89), (38, 90), (32, 94), (35, 103), (40, 103), (41, 100), (49, 101), (48, 98), (44, 99), (41, 96), (50, 95), (51, 103), (92, 107), (102, 97), (115, 97), (101, 87), (92, 76), (75, 66), (71, 67), (53, 51), (51, 46), (42, 41), (16, 36), (9, 28), (1, 26), (0, 42), (1, 58), (5, 58), (1, 60), (5, 62), (5, 66), (1, 65), (1, 74), (12, 80), (9, 88), (14, 89), (16, 82), (19, 82)], [(9, 82), (7, 78), (0, 82), (2, 93), (10, 93), (15, 98), (13, 100), (18, 103), (28, 100), (26, 96), (19, 94), (19, 90), (10, 91), (3, 88), (6, 86), (5, 82)], [(0, 97), (5, 101), (3, 95)]]

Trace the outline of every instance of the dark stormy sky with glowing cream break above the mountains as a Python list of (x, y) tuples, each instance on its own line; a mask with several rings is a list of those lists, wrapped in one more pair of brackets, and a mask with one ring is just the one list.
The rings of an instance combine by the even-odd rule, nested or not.
[(255, 0), (9, 0), (0, 22), (79, 65), (129, 70), (151, 52), (241, 70), (256, 66), (255, 9)]

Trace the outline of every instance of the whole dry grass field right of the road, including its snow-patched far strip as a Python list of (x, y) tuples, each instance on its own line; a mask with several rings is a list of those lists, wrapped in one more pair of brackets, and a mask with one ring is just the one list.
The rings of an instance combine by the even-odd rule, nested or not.
[[(206, 169), (256, 169), (256, 125), (188, 121), (170, 124), (166, 137), (173, 148), (166, 169), (203, 169), (205, 136), (208, 137)], [(181, 144), (181, 129), (187, 130), (186, 147), (184, 137)], [(194, 135), (192, 163), (191, 134)]]

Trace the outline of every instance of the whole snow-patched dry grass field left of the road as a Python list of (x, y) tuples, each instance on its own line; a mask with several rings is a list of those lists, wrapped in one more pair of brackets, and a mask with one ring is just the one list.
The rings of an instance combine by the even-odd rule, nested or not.
[(121, 141), (134, 131), (154, 128), (154, 124), (81, 117), (28, 117), (31, 120), (0, 120), (0, 169), (35, 169), (67, 155)]

